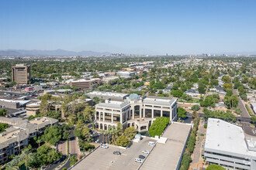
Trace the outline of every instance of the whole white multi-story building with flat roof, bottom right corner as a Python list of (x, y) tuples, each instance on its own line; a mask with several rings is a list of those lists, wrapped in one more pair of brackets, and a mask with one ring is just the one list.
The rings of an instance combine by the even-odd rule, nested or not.
[(204, 157), (227, 169), (256, 169), (256, 139), (245, 137), (234, 124), (209, 118)]

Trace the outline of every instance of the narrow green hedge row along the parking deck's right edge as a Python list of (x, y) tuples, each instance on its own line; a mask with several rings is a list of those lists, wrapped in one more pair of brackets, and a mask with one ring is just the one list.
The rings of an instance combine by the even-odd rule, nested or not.
[(187, 142), (185, 152), (182, 156), (181, 167), (179, 168), (180, 170), (187, 170), (189, 168), (189, 163), (192, 162), (191, 155), (195, 148), (196, 132), (199, 128), (199, 121), (200, 121), (200, 118), (195, 117), (194, 126), (189, 136), (189, 140)]

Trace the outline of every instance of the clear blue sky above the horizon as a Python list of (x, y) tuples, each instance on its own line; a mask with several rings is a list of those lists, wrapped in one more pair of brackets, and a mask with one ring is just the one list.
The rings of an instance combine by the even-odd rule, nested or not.
[(254, 0), (0, 0), (0, 49), (256, 51)]

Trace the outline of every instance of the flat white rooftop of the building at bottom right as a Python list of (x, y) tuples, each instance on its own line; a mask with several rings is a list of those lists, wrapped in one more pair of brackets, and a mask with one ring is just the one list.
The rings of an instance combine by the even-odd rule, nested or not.
[(242, 128), (215, 118), (208, 119), (205, 150), (256, 158), (256, 151), (247, 148)]

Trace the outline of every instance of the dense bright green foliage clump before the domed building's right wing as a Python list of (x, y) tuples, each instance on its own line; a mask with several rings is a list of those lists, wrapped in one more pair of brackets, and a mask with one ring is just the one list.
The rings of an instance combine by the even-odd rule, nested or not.
[(151, 137), (154, 137), (155, 135), (161, 136), (164, 128), (166, 128), (169, 122), (170, 117), (157, 117), (154, 123), (150, 126), (148, 134), (150, 134)]

